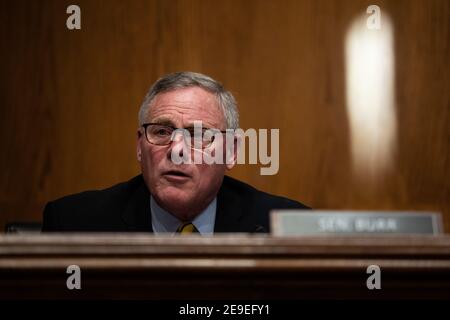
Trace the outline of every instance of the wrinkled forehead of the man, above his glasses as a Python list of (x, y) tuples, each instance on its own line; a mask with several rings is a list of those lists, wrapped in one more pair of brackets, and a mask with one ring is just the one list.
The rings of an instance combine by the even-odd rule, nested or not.
[(198, 87), (158, 94), (150, 105), (147, 120), (172, 122), (176, 127), (202, 121), (205, 126), (226, 129), (225, 117), (216, 96)]

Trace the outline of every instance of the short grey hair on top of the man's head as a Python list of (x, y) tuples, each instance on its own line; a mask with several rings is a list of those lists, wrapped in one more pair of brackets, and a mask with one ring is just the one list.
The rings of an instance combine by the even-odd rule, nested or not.
[(139, 110), (139, 125), (144, 124), (150, 105), (156, 95), (176, 89), (200, 87), (215, 94), (227, 123), (227, 129), (239, 127), (239, 112), (233, 95), (216, 80), (195, 72), (177, 72), (165, 75), (156, 81), (148, 91)]

